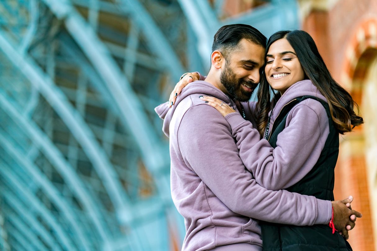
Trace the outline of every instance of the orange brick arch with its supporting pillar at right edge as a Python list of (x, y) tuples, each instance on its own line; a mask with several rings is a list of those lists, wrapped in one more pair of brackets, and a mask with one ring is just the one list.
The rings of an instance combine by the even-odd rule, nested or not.
[[(370, 68), (369, 64), (377, 58), (377, 19), (370, 18), (360, 22), (346, 48), (342, 83), (360, 105), (363, 115), (363, 109), (368, 109), (362, 107), (365, 78)], [(352, 194), (355, 197), (352, 207), (363, 213), (363, 218), (357, 220), (357, 227), (350, 233), (349, 242), (352, 248), (372, 251), (377, 240), (377, 229), (372, 227), (376, 224), (372, 224), (373, 210), (371, 210), (372, 199), (368, 185), (364, 129), (365, 126), (357, 127), (354, 132), (341, 138), (338, 160), (341, 168), (337, 168), (336, 171), (336, 182), (338, 182), (335, 192), (338, 198)]]

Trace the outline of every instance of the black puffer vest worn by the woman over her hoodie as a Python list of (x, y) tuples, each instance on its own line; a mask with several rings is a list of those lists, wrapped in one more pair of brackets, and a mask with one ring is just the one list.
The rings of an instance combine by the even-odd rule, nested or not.
[[(322, 200), (334, 200), (334, 168), (339, 153), (339, 133), (331, 119), (328, 104), (314, 96), (300, 96), (287, 103), (274, 121), (268, 141), (276, 147), (277, 135), (285, 128), (290, 110), (301, 101), (312, 98), (326, 110), (330, 133), (321, 155), (312, 170), (299, 182), (285, 189), (290, 192), (315, 196)], [(300, 138), (297, 138), (300, 140)], [(351, 246), (340, 234), (332, 233), (328, 225), (293, 226), (260, 222), (264, 251), (350, 251)]]

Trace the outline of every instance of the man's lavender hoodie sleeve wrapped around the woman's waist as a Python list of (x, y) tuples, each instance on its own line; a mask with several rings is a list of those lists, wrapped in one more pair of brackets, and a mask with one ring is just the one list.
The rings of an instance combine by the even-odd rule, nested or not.
[(229, 124), (213, 107), (202, 104), (187, 110), (177, 138), (186, 165), (235, 213), (292, 225), (330, 220), (329, 201), (285, 190), (269, 191), (257, 184), (239, 157)]

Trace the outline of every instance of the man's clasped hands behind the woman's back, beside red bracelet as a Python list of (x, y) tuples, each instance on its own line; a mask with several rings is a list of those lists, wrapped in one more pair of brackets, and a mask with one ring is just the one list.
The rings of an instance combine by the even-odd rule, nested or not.
[(355, 227), (356, 217), (361, 218), (362, 214), (351, 209), (352, 196), (344, 200), (331, 201), (334, 208), (334, 226), (336, 230), (348, 239), (348, 230)]

